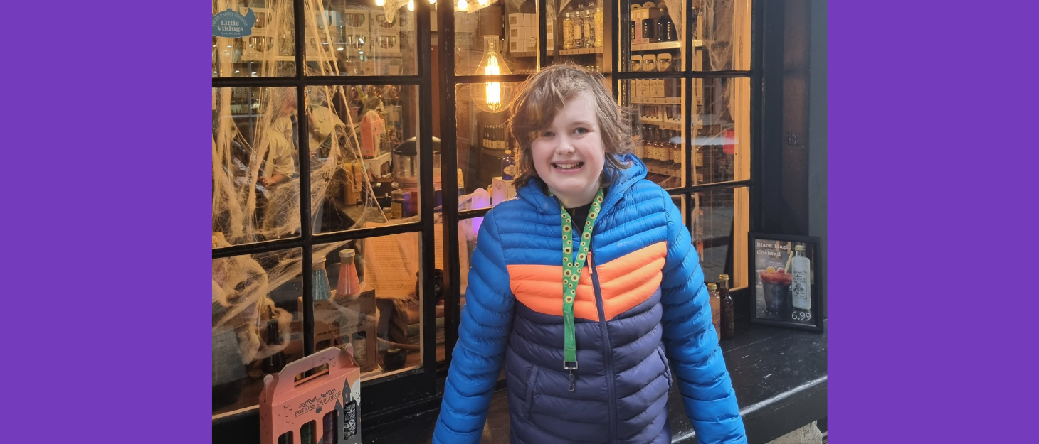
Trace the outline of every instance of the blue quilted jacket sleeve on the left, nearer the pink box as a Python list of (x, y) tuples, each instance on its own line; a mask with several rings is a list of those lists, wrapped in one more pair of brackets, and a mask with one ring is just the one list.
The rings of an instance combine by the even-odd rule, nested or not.
[(480, 442), (491, 391), (505, 360), (514, 297), (495, 216), (494, 211), (487, 214), (477, 235), (434, 444)]

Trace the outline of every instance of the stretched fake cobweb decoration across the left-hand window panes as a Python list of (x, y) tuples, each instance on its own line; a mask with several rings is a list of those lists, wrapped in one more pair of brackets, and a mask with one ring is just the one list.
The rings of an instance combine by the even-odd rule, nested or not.
[[(387, 0), (388, 12), (391, 3), (400, 0)], [(401, 3), (403, 4), (403, 3)], [(332, 41), (328, 34), (327, 23), (319, 30), (316, 21), (327, 20), (322, 13), (322, 4), (315, 0), (304, 0), (304, 17), (308, 18), (307, 35), (321, 36)], [(292, 67), (286, 72), (286, 59), (293, 56), (294, 51), (303, 51), (304, 45), (293, 43), (293, 12), (291, 0), (244, 1), (214, 0), (213, 12), (231, 8), (244, 13), (247, 8), (265, 8), (270, 22), (266, 24), (273, 30), (272, 48), (262, 54), (262, 58), (252, 63), (257, 66), (258, 77), (292, 76)], [(399, 8), (399, 7), (398, 7)], [(397, 9), (393, 9), (396, 17)], [(243, 41), (244, 40), (244, 41)], [(233, 51), (228, 47), (247, 46), (249, 37), (224, 38), (214, 37), (213, 70), (228, 73), (234, 70), (236, 62)], [(296, 43), (298, 44), (298, 43)], [(294, 47), (294, 48), (293, 48)], [(406, 59), (406, 58), (405, 58)], [(307, 55), (308, 76), (338, 76), (340, 65), (335, 56), (318, 54)], [(364, 115), (369, 109), (379, 109), (382, 99), (390, 88), (382, 88), (379, 95), (371, 94), (371, 90), (350, 86), (311, 86), (304, 93), (305, 103), (310, 109), (327, 108), (331, 115), (346, 116), (346, 121), (336, 124), (328, 139), (327, 155), (322, 158), (311, 156), (311, 171), (298, 171), (298, 159), (294, 159), (297, 176), (274, 187), (265, 187), (261, 181), (263, 159), (273, 152), (278, 137), (279, 119), (298, 115), (298, 119), (308, 118), (307, 111), (285, 111), (282, 105), (296, 103), (295, 88), (252, 88), (255, 103), (250, 113), (256, 115), (251, 129), (249, 123), (240, 123), (232, 119), (233, 114), (241, 114), (240, 110), (232, 111), (232, 95), (238, 91), (249, 91), (246, 88), (214, 88), (214, 122), (213, 122), (213, 248), (241, 245), (252, 242), (299, 235), (299, 177), (298, 174), (310, 174), (311, 199), (310, 220), (314, 221), (322, 203), (335, 196), (344, 187), (344, 181), (354, 183), (356, 190), (364, 190), (362, 204), (363, 217), (357, 218), (349, 229), (361, 228), (367, 222), (385, 222), (382, 209), (379, 207), (372, 192), (369, 174), (353, 174), (344, 163), (351, 160), (361, 161), (361, 142), (353, 121), (353, 113), (342, 112), (342, 101), (330, 98), (347, 98), (347, 106), (361, 108), (358, 115)], [(239, 124), (243, 127), (240, 128)], [(299, 137), (309, 137), (299, 134)], [(289, 139), (292, 139), (290, 136)], [(296, 141), (298, 143), (298, 140)], [(311, 150), (314, 151), (315, 139), (311, 139)], [(317, 143), (320, 143), (318, 141)], [(292, 144), (294, 158), (298, 158), (297, 145)], [(324, 257), (334, 250), (343, 247), (346, 242), (315, 245), (313, 257)], [(239, 353), (243, 364), (249, 364), (258, 359), (269, 357), (285, 350), (290, 342), (292, 313), (274, 306), (268, 294), (278, 286), (295, 280), (302, 272), (302, 255), (300, 249), (276, 251), (252, 255), (240, 255), (213, 259), (213, 335), (233, 330), (238, 339)], [(346, 308), (340, 307), (342, 310)], [(358, 313), (350, 313), (353, 316)], [(367, 313), (373, 317), (374, 313)], [(281, 344), (266, 344), (265, 326), (270, 318), (276, 318)]]

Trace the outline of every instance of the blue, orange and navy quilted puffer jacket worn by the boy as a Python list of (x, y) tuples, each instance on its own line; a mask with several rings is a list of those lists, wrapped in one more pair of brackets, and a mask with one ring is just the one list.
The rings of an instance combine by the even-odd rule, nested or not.
[(634, 165), (614, 171), (574, 304), (576, 389), (559, 203), (535, 179), (484, 218), (434, 443), (480, 442), (503, 360), (513, 443), (670, 443), (672, 384), (700, 444), (746, 442), (689, 230), (645, 165), (623, 161)]

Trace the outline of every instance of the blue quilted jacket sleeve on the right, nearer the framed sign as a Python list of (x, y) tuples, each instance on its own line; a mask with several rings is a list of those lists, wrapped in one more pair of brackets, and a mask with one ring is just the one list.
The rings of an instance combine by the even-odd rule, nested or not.
[(682, 214), (664, 193), (667, 259), (661, 282), (664, 348), (674, 369), (686, 415), (700, 444), (746, 443), (747, 437), (725, 369), (703, 271)]

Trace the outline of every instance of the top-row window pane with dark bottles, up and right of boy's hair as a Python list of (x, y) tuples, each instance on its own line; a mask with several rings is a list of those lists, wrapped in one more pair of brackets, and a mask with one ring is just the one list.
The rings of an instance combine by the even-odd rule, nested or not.
[(621, 54), (621, 71), (659, 73), (684, 71), (684, 1), (625, 0), (621, 7), (630, 11), (628, 31), (620, 35), (631, 45), (631, 53)]

